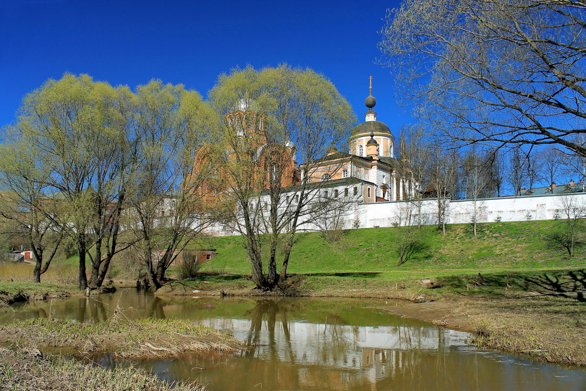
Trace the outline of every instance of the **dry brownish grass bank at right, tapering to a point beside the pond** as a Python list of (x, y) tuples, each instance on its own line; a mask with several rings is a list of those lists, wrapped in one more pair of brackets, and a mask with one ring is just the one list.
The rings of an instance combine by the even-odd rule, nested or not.
[(448, 298), (380, 307), (472, 332), (472, 344), (539, 361), (586, 365), (586, 304), (565, 297)]

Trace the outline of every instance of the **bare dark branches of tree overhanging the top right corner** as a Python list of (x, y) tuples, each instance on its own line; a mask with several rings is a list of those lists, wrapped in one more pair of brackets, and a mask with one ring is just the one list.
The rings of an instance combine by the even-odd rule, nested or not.
[(435, 134), (586, 156), (581, 0), (405, 0), (380, 48)]

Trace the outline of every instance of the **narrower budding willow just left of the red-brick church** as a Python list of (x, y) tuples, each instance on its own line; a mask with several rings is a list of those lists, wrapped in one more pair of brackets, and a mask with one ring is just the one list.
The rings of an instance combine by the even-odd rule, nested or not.
[(200, 94), (152, 80), (136, 90), (136, 169), (127, 199), (128, 230), (151, 288), (180, 251), (203, 236), (212, 213), (198, 196), (209, 171), (192, 173), (194, 154), (215, 126)]

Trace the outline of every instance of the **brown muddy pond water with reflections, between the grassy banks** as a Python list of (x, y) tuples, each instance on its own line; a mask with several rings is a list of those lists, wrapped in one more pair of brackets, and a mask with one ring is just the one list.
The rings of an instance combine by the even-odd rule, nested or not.
[[(384, 301), (329, 298), (161, 299), (134, 290), (42, 305), (16, 305), (10, 318), (105, 321), (115, 307), (130, 318), (183, 318), (246, 341), (239, 355), (139, 361), (169, 380), (228, 390), (586, 390), (586, 370), (535, 363), (466, 345), (464, 332), (389, 315)], [(101, 365), (124, 365), (108, 356)]]

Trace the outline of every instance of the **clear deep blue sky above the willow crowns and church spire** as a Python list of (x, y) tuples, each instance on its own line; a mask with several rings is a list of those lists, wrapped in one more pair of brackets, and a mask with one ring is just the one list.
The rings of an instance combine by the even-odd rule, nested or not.
[(288, 63), (324, 74), (364, 120), (413, 122), (391, 69), (375, 63), (387, 8), (400, 1), (0, 0), (0, 125), (22, 97), (64, 72), (135, 87), (151, 79), (206, 96), (236, 66)]

